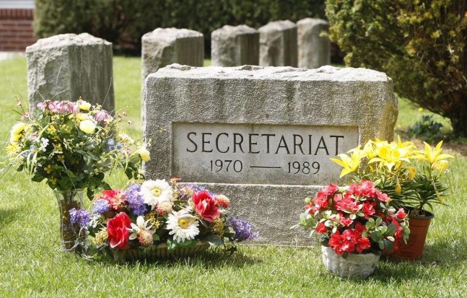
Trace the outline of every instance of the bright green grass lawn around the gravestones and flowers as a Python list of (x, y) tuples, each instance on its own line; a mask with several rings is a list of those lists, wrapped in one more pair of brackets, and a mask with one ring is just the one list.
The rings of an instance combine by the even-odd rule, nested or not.
[[(134, 120), (131, 134), (137, 136), (141, 134), (140, 59), (115, 57), (113, 69), (117, 109), (131, 106), (125, 109)], [(25, 58), (0, 62), (3, 141), (18, 118), (10, 84), (27, 97)], [(400, 100), (399, 106), (397, 129), (427, 113), (418, 112), (406, 100)], [(439, 119), (449, 127), (448, 121)], [(208, 251), (194, 259), (125, 266), (112, 260), (86, 261), (61, 250), (52, 191), (43, 183), (29, 182), (24, 173), (9, 171), (0, 182), (0, 297), (466, 297), (467, 158), (459, 152), (449, 152), (456, 156), (448, 175), (450, 207), (434, 209), (423, 258), (381, 261), (366, 281), (328, 274), (319, 246), (241, 246), (230, 258)], [(4, 159), (3, 151), (0, 154)], [(110, 182), (121, 187), (125, 180), (120, 175)]]

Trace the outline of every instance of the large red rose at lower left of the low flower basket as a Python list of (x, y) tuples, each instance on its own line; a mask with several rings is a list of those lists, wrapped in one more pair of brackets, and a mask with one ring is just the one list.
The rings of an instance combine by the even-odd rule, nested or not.
[(111, 248), (126, 249), (129, 248), (128, 237), (129, 233), (126, 228), (131, 227), (131, 219), (125, 212), (120, 212), (115, 217), (107, 221), (107, 240)]

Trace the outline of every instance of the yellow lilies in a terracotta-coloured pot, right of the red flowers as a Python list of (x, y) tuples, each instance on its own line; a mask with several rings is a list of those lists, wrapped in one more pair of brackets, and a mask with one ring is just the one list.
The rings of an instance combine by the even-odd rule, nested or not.
[(402, 245), (400, 254), (409, 259), (422, 256), (425, 239), (433, 214), (426, 210), (432, 205), (445, 205), (443, 197), (448, 195), (449, 186), (442, 176), (452, 155), (442, 152), (443, 142), (432, 148), (425, 143), (417, 149), (412, 142), (369, 141), (339, 159), (331, 159), (343, 167), (341, 177), (352, 174), (354, 182), (361, 179), (374, 181), (379, 191), (387, 193), (395, 208), (404, 208), (409, 213), (411, 237)]

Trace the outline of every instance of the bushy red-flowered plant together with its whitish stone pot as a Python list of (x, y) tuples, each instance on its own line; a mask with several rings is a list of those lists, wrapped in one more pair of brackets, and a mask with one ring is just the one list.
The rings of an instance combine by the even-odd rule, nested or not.
[(381, 252), (397, 250), (409, 237), (404, 209), (396, 211), (390, 202), (370, 181), (343, 188), (329, 184), (314, 199), (305, 199), (299, 225), (318, 233), (327, 270), (344, 278), (366, 278)]

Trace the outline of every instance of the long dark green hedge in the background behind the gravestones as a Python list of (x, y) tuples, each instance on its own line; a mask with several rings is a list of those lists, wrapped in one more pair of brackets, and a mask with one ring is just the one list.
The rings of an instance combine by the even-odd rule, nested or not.
[(88, 32), (138, 53), (144, 33), (188, 28), (204, 34), (210, 53), (211, 32), (223, 25), (304, 17), (324, 17), (324, 0), (36, 0), (34, 31), (38, 38)]

